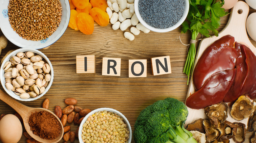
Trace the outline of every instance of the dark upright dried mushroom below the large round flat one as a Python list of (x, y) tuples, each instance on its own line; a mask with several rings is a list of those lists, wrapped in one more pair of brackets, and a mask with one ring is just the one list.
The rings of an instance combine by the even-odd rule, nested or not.
[(246, 134), (246, 128), (245, 124), (243, 123), (235, 123), (237, 125), (237, 132), (236, 135), (234, 136), (234, 140), (236, 143), (242, 143), (245, 141), (245, 134)]

